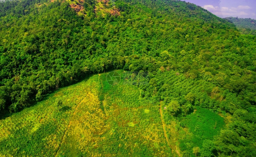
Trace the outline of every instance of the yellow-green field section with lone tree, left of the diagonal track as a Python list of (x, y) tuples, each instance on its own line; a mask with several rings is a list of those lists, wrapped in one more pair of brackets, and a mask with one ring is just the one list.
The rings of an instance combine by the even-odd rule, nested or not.
[[(52, 93), (46, 100), (0, 120), (0, 154), (54, 156), (77, 105), (88, 91), (95, 93), (94, 77)], [(54, 106), (63, 100), (60, 112)], [(38, 149), (40, 148), (40, 149)]]

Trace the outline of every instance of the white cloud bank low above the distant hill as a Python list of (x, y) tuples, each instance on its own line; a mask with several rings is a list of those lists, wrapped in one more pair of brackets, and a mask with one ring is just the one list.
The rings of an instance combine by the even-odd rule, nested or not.
[(208, 11), (212, 12), (214, 15), (217, 15), (219, 17), (241, 17), (246, 18), (248, 15), (256, 16), (255, 13), (253, 13), (249, 6), (239, 5), (238, 7), (214, 7), (213, 5), (204, 5), (204, 9), (207, 9)]

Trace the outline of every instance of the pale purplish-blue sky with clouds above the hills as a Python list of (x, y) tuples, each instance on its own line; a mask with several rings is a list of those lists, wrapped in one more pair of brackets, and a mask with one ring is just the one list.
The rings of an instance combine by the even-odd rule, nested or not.
[(238, 17), (256, 20), (256, 0), (185, 0), (199, 5), (220, 18)]

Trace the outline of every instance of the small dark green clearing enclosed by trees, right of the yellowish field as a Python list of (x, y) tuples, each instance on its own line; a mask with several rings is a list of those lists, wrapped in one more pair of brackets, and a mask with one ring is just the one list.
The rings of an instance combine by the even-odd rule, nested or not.
[(181, 123), (188, 129), (185, 137), (180, 140), (183, 151), (192, 150), (193, 147), (202, 148), (203, 142), (213, 140), (225, 125), (223, 117), (201, 107), (196, 107)]

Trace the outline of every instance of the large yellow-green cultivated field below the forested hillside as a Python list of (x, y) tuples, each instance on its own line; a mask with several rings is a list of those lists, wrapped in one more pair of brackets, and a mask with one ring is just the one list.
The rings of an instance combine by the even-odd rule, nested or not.
[[(190, 130), (193, 126), (186, 118), (185, 128), (175, 121), (165, 122), (162, 102), (143, 99), (133, 85), (112, 86), (106, 75), (61, 88), (38, 104), (2, 118), (0, 156), (181, 156), (178, 139), (187, 137), (180, 134), (192, 134), (190, 140), (201, 136)], [(63, 100), (59, 111), (57, 98)], [(216, 117), (208, 110), (198, 111), (200, 117), (206, 112)], [(198, 117), (192, 114), (189, 119), (203, 125), (195, 123)], [(214, 118), (210, 124), (215, 125)], [(211, 131), (218, 132), (222, 125), (223, 120)]]

